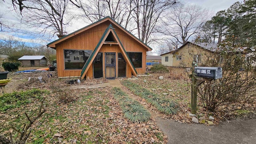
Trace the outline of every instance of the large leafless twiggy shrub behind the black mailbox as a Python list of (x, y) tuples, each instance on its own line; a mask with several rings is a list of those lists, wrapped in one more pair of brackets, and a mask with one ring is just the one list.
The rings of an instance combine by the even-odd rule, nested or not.
[[(198, 97), (202, 106), (214, 112), (236, 110), (240, 105), (246, 106), (252, 100), (256, 75), (250, 58), (235, 48), (224, 49), (207, 56), (202, 65), (222, 67), (222, 78), (204, 82), (198, 86)], [(232, 107), (230, 107), (232, 106)]]

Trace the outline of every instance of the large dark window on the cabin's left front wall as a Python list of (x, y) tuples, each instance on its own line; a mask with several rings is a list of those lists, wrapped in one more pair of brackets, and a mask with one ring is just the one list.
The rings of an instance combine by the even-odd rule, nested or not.
[(65, 70), (82, 69), (91, 50), (64, 50)]

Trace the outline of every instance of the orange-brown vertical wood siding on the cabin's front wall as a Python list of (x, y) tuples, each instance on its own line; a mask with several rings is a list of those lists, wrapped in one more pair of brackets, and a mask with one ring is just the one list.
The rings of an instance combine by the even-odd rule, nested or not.
[[(100, 38), (104, 34), (106, 28), (110, 25), (110, 22), (104, 22), (97, 25), (77, 36), (69, 38), (60, 44), (56, 45), (56, 59), (57, 59), (57, 69), (59, 77), (66, 76), (80, 76), (82, 70), (64, 70), (64, 49), (71, 50), (94, 50), (100, 41)], [(113, 25), (114, 26), (114, 25)], [(115, 27), (114, 27), (115, 28)], [(120, 39), (122, 45), (124, 46), (126, 52), (142, 52), (142, 68), (136, 68), (138, 74), (144, 74), (146, 72), (146, 48), (144, 48), (140, 43), (133, 40), (121, 29), (115, 29), (118, 38)], [(118, 52), (121, 52), (118, 45), (103, 44), (99, 52), (103, 52), (103, 77), (105, 77), (105, 52), (115, 52), (116, 60), (118, 60)], [(116, 62), (117, 64), (117, 62)], [(117, 66), (117, 65), (116, 65)], [(90, 78), (93, 76), (92, 66), (86, 74)], [(131, 69), (126, 66), (126, 77), (131, 77)], [(116, 76), (118, 75), (118, 69), (116, 68)]]

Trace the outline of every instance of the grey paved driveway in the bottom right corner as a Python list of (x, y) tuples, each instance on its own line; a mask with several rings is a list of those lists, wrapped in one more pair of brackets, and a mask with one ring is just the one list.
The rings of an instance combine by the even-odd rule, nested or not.
[(156, 123), (168, 136), (168, 144), (256, 144), (256, 119), (205, 126), (156, 117)]

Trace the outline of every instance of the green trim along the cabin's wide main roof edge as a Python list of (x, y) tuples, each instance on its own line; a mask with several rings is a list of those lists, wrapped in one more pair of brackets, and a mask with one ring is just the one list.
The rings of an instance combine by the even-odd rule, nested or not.
[[(72, 33), (70, 33), (70, 34), (68, 34), (68, 35), (66, 35), (66, 36), (63, 36), (63, 37), (61, 37), (61, 38), (59, 38), (59, 39), (57, 39), (57, 40), (54, 40), (53, 42), (48, 43), (47, 46), (49, 46), (50, 44), (52, 44), (52, 43), (54, 43), (54, 42), (57, 42), (57, 41), (59, 41), (59, 40), (62, 40), (63, 38), (66, 38), (66, 37), (68, 37), (68, 36), (70, 36), (70, 35), (72, 35), (72, 34), (75, 34), (76, 32), (79, 32), (80, 30), (83, 30), (84, 28), (87, 28), (87, 27), (89, 27), (89, 26), (92, 26), (92, 25), (96, 24), (97, 22), (100, 22), (100, 21), (102, 21), (102, 20), (104, 20), (104, 19), (106, 19), (106, 18), (110, 18), (111, 20), (113, 20), (110, 16), (106, 16), (105, 18), (102, 18), (102, 19), (100, 19), (100, 20), (98, 20), (98, 21), (96, 21), (96, 22), (94, 22), (94, 23), (92, 23), (92, 24), (89, 24), (88, 26), (85, 26), (85, 27), (83, 27), (83, 28), (80, 28), (79, 30), (76, 30), (76, 31), (74, 31), (74, 32), (72, 32)], [(120, 24), (118, 24), (116, 21), (113, 20), (113, 22), (114, 22), (116, 25), (118, 25), (118, 26), (120, 26), (121, 28), (123, 28), (126, 32), (128, 32), (129, 34), (131, 34), (134, 38), (136, 38), (137, 40), (139, 40), (140, 42), (142, 42), (142, 40), (140, 40), (139, 38), (137, 38), (136, 36), (134, 36), (134, 34), (132, 34), (131, 32), (129, 32), (128, 30), (126, 30), (123, 26), (121, 26)], [(142, 43), (145, 44), (144, 42), (142, 42)], [(147, 44), (145, 44), (145, 45), (148, 46)], [(148, 48), (150, 48), (150, 46), (148, 46)], [(153, 50), (152, 48), (150, 48), (150, 49)]]

